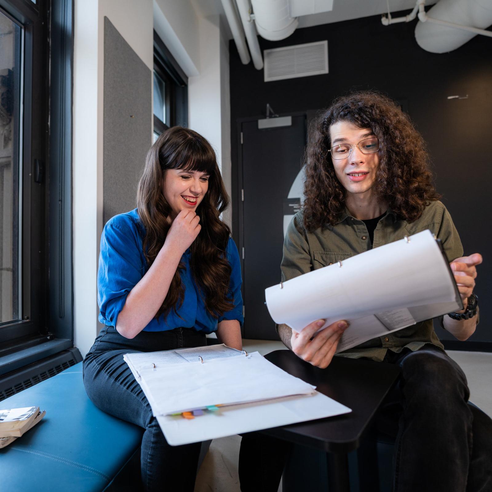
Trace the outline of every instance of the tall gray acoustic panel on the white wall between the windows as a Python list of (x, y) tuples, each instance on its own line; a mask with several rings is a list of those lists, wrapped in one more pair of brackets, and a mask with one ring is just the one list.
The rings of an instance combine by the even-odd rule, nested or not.
[(135, 208), (152, 144), (152, 71), (104, 18), (103, 219)]

